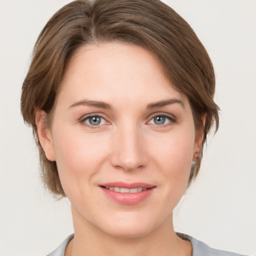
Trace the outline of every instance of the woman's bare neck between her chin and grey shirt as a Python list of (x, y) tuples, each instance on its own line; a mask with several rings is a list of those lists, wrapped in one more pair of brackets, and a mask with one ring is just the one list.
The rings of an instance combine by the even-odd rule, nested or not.
[(74, 238), (65, 256), (180, 255), (191, 256), (191, 243), (180, 239), (173, 229), (172, 214), (155, 230), (139, 237), (109, 235), (73, 212)]

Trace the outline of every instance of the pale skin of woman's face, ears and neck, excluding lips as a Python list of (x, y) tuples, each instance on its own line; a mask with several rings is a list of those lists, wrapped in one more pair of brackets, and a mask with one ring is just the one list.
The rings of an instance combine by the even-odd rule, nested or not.
[[(202, 134), (195, 132), (187, 97), (165, 79), (150, 52), (120, 42), (80, 47), (65, 71), (49, 126), (45, 116), (36, 112), (40, 143), (56, 161), (71, 202), (74, 239), (65, 256), (192, 254), (190, 242), (175, 234), (172, 210)], [(127, 205), (98, 186), (115, 181), (155, 188)]]

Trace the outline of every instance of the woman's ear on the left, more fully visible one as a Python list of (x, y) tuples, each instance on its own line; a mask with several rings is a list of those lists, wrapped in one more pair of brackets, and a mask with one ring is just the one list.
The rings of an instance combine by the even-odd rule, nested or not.
[(35, 113), (35, 123), (37, 126), (38, 138), (43, 148), (45, 156), (50, 161), (55, 161), (53, 143), (48, 125), (45, 123), (47, 114), (43, 110)]

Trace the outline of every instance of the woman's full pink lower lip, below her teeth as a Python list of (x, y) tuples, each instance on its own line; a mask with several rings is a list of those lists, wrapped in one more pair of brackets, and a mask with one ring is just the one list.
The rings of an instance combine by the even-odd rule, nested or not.
[(103, 192), (113, 199), (114, 201), (122, 204), (136, 204), (144, 199), (146, 199), (154, 190), (155, 187), (148, 188), (144, 191), (136, 192), (136, 193), (121, 193), (113, 190), (106, 189), (102, 186), (100, 188)]

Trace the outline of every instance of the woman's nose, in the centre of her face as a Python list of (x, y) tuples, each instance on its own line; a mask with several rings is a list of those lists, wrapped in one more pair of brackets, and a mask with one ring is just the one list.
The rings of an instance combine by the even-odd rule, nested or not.
[(123, 125), (116, 128), (110, 161), (112, 166), (125, 171), (141, 169), (148, 163), (146, 139), (138, 127)]

